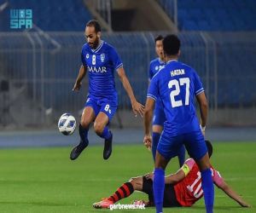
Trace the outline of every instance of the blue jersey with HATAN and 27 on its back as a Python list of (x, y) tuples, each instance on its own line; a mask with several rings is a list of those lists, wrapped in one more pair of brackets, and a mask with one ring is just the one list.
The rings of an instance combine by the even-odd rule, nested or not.
[(195, 70), (177, 60), (170, 60), (152, 78), (148, 97), (163, 102), (166, 113), (164, 130), (180, 135), (200, 130), (194, 98), (203, 92), (201, 80)]

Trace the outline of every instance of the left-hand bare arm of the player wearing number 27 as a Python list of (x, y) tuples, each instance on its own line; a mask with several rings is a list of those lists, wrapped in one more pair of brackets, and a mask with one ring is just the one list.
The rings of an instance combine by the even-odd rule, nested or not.
[(154, 103), (155, 100), (153, 98), (148, 97), (144, 109), (144, 130), (145, 130), (145, 135), (144, 135), (144, 145), (148, 148), (151, 149), (151, 142), (152, 138), (150, 135), (150, 127), (151, 127), (151, 121), (153, 118), (153, 111), (154, 111)]

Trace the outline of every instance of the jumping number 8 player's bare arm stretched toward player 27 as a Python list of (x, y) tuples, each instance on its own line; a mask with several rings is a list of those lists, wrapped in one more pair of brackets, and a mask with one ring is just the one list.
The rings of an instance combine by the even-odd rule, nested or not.
[(126, 77), (125, 69), (123, 67), (119, 67), (117, 72), (118, 72), (120, 81), (123, 83), (125, 91), (131, 100), (131, 107), (132, 107), (134, 114), (137, 116), (137, 113), (139, 113), (143, 117), (144, 106), (141, 103), (137, 102), (137, 100), (133, 94), (133, 90), (131, 89), (131, 84), (130, 84), (128, 78)]

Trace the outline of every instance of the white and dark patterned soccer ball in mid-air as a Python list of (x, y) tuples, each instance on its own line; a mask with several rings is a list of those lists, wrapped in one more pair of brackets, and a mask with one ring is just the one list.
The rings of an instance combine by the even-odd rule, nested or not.
[(64, 113), (58, 122), (58, 128), (63, 135), (72, 135), (76, 130), (76, 119), (70, 113)]

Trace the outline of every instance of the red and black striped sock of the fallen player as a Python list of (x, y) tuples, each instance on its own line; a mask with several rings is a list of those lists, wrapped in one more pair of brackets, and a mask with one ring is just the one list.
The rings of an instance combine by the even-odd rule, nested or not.
[(113, 195), (111, 195), (108, 199), (112, 200), (113, 203), (116, 203), (120, 199), (125, 199), (134, 192), (134, 188), (131, 182), (125, 182), (121, 187), (119, 187)]

